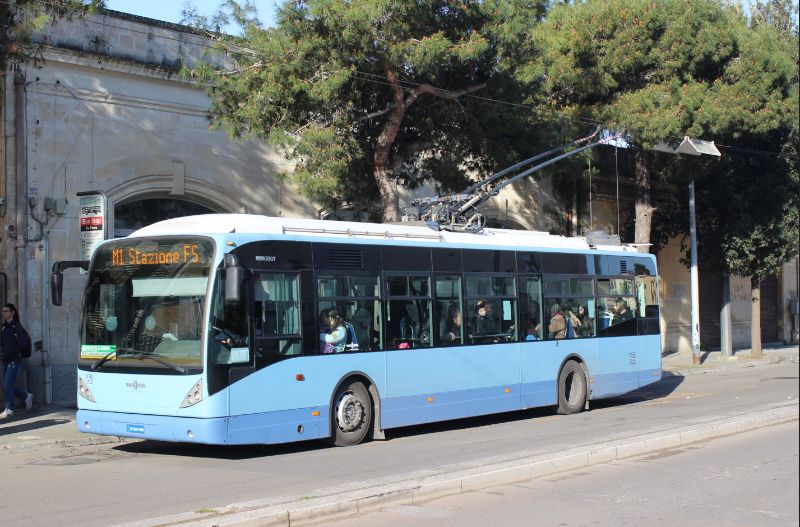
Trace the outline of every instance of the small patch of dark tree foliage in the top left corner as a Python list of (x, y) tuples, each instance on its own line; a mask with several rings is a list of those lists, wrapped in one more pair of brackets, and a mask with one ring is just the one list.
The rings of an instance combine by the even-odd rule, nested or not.
[(60, 20), (95, 12), (104, 0), (2, 0), (0, 1), (0, 69), (16, 70), (21, 64), (43, 60), (42, 43), (33, 35)]

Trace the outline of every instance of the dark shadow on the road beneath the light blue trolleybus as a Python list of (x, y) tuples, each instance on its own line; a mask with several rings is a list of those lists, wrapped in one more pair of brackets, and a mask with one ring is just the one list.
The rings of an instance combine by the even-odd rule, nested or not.
[[(639, 402), (653, 401), (668, 397), (684, 381), (682, 375), (665, 371), (659, 382), (635, 390), (619, 397), (592, 401), (591, 408), (601, 410), (603, 408), (618, 407)], [(470, 428), (480, 428), (502, 423), (513, 423), (528, 419), (536, 419), (553, 416), (556, 413), (555, 406), (545, 406), (530, 410), (518, 410), (501, 414), (486, 415), (480, 417), (468, 417), (453, 421), (443, 421), (416, 426), (406, 426), (387, 431), (387, 439), (400, 439), (414, 437), (418, 435), (432, 434), (437, 432), (448, 432), (451, 430), (467, 430)], [(215, 446), (215, 445), (195, 445), (186, 443), (170, 443), (165, 441), (141, 441), (115, 446), (115, 450), (137, 453), (137, 454), (156, 454), (162, 456), (181, 456), (214, 459), (252, 459), (259, 457), (271, 457), (290, 455), (302, 452), (322, 450), (331, 448), (323, 440), (302, 441), (298, 443), (287, 443), (283, 445), (242, 445), (242, 446)]]

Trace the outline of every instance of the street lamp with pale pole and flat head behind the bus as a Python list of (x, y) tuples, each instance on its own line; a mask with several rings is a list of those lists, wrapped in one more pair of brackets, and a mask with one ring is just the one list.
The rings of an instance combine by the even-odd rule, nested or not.
[[(701, 141), (699, 139), (691, 139), (688, 136), (683, 138), (678, 148), (672, 149), (666, 143), (659, 143), (654, 147), (654, 150), (692, 156), (706, 154), (719, 157), (722, 155), (717, 150), (717, 147), (714, 146), (714, 141)], [(700, 280), (697, 274), (697, 223), (695, 221), (694, 177), (692, 177), (692, 182), (689, 184), (689, 237), (691, 240), (689, 279), (692, 294), (692, 364), (700, 364)], [(727, 320), (722, 323), (722, 332), (723, 335), (728, 335), (727, 344), (730, 344), (729, 334), (726, 333), (726, 328), (730, 326), (730, 305), (727, 302), (725, 303), (725, 309), (723, 317), (727, 313)], [(727, 349), (725, 343), (723, 343), (722, 349), (723, 351)]]

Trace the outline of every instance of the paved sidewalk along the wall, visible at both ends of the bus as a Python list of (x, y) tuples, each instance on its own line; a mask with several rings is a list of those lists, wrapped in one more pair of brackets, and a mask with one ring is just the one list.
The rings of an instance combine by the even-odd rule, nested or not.
[[(733, 368), (753, 368), (780, 361), (798, 361), (797, 346), (780, 346), (764, 349), (762, 359), (751, 359), (750, 350), (734, 352), (731, 358), (722, 357), (719, 351), (700, 354), (702, 363), (692, 364), (691, 352), (673, 353), (663, 358), (665, 375), (693, 375), (713, 373)], [(0, 455), (20, 450), (69, 448), (103, 443), (135, 442), (128, 439), (78, 432), (75, 409), (36, 404), (31, 411), (18, 410), (13, 417), (0, 421)]]

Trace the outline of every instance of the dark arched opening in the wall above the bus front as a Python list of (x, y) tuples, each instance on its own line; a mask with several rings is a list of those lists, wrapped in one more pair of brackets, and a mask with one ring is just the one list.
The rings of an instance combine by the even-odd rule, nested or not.
[(127, 236), (136, 229), (171, 218), (214, 214), (206, 205), (175, 198), (144, 198), (114, 205), (114, 237)]

